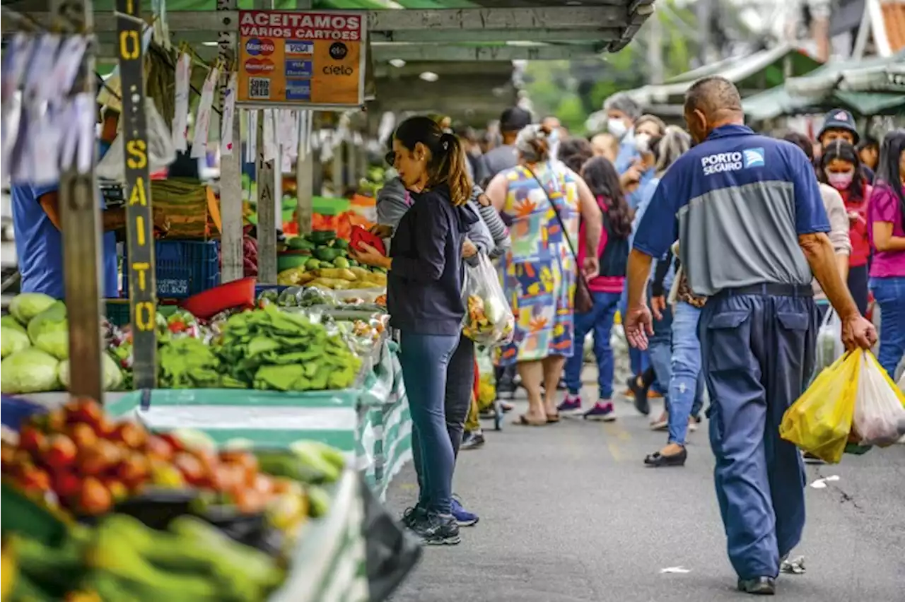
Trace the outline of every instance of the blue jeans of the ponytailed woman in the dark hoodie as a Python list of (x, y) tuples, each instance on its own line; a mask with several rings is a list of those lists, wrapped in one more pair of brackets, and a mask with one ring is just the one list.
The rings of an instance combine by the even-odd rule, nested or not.
[[(420, 461), (419, 505), (441, 514), (450, 513), (452, 470), (455, 456), (446, 428), (446, 372), (459, 335), (414, 334), (403, 331), (399, 338), (399, 362), (412, 413)], [(419, 467), (420, 466), (420, 467)]]

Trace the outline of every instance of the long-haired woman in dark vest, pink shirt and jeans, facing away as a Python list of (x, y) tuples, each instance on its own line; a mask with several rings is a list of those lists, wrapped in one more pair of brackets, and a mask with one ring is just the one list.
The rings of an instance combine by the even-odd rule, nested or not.
[[(560, 412), (581, 411), (581, 366), (584, 362), (585, 337), (594, 331), (594, 354), (597, 359), (597, 385), (599, 397), (591, 409), (584, 412), (587, 419), (614, 419), (613, 410), (613, 349), (610, 347), (610, 331), (613, 318), (625, 282), (625, 263), (629, 252), (629, 235), (632, 232), (632, 216), (619, 185), (615, 167), (602, 156), (590, 159), (582, 168), (581, 176), (597, 200), (604, 214), (604, 228), (600, 245), (596, 249), (600, 260), (599, 276), (587, 284), (594, 297), (594, 307), (586, 314), (575, 315), (574, 353), (566, 361), (566, 400), (559, 404)], [(584, 240), (585, 224), (581, 224), (578, 240)], [(587, 254), (584, 243), (578, 249), (578, 265)]]

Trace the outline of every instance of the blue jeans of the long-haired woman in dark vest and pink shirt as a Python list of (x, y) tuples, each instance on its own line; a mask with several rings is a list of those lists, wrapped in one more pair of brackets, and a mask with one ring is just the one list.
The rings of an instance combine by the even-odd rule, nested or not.
[(619, 300), (619, 293), (592, 293), (594, 307), (584, 314), (575, 315), (575, 351), (566, 360), (566, 385), (568, 392), (581, 392), (581, 366), (584, 363), (585, 337), (594, 332), (594, 356), (597, 359), (597, 387), (601, 400), (613, 399), (613, 348), (610, 347), (610, 331)]

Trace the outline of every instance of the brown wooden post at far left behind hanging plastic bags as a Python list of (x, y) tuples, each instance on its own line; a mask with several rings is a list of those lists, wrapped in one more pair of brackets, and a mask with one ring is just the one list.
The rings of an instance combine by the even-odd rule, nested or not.
[[(94, 26), (91, 0), (52, 0), (54, 20), (65, 33), (90, 33)], [(140, 46), (140, 43), (139, 43)], [(71, 97), (83, 95), (93, 103), (94, 49), (85, 52), (71, 89)], [(94, 140), (90, 140), (94, 146)], [(91, 149), (95, 155), (96, 148)], [(93, 162), (92, 162), (93, 164)], [(62, 262), (65, 272), (66, 307), (69, 316), (70, 391), (103, 401), (104, 379), (100, 353), (100, 260), (102, 232), (100, 199), (93, 165), (80, 174), (71, 165), (60, 174)]]

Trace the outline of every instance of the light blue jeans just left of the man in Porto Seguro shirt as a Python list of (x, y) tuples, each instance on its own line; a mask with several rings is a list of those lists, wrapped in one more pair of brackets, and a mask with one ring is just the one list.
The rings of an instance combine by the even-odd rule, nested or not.
[(700, 308), (683, 301), (672, 306), (672, 370), (670, 378), (670, 443), (685, 445), (688, 419), (700, 412), (704, 379), (700, 372), (698, 318)]

